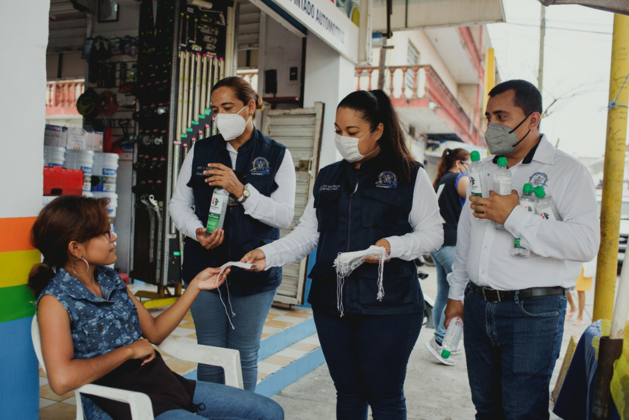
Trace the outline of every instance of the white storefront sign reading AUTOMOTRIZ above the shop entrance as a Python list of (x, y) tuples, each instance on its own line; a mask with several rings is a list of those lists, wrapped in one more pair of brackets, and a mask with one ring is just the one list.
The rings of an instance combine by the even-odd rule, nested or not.
[(360, 6), (357, 0), (273, 1), (347, 59), (358, 62)]

